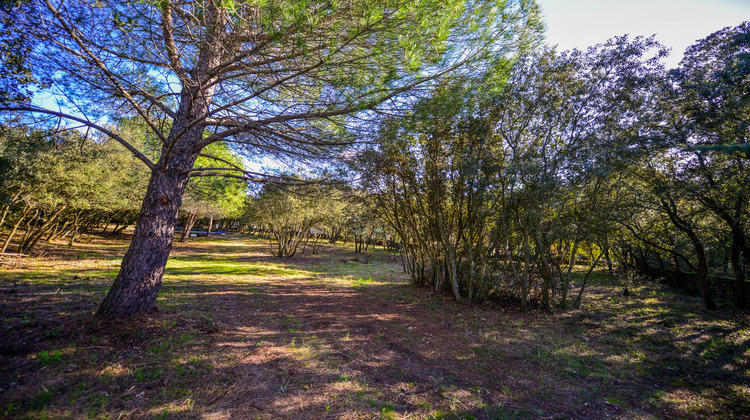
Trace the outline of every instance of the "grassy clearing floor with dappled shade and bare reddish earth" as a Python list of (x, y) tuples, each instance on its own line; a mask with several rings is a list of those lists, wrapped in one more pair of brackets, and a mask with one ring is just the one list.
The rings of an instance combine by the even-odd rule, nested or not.
[(411, 288), (341, 246), (176, 244), (159, 312), (92, 318), (126, 242), (0, 269), (0, 418), (741, 418), (750, 317), (598, 275), (520, 314)]

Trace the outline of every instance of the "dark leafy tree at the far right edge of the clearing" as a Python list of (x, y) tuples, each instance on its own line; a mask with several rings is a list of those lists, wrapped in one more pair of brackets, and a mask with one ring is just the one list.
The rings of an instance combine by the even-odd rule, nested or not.
[[(655, 90), (644, 116), (650, 154), (629, 171), (638, 196), (621, 218), (644, 244), (633, 252), (640, 253), (639, 270), (700, 291), (707, 307), (715, 306), (717, 290), (747, 304), (748, 33), (745, 22), (698, 41)], [(660, 268), (650, 268), (654, 263)], [(710, 273), (728, 275), (729, 266), (734, 284), (711, 284)]]

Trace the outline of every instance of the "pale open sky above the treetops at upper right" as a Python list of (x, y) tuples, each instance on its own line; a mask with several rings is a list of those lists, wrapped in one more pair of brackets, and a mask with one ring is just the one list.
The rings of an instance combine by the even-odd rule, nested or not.
[(539, 0), (547, 42), (580, 48), (617, 36), (656, 34), (672, 48), (675, 67), (689, 45), (726, 26), (750, 20), (750, 0)]

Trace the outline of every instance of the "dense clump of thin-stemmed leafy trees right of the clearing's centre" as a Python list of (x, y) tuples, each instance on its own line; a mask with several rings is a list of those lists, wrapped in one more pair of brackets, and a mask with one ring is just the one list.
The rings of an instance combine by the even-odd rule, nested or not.
[(602, 216), (618, 169), (641, 152), (629, 136), (642, 122), (630, 116), (646, 109), (662, 53), (626, 37), (587, 53), (540, 49), (440, 85), (409, 118), (384, 122), (355, 169), (413, 281), (481, 300), (504, 287), (502, 273), (524, 307), (532, 289), (564, 307), (578, 250), (593, 268), (608, 248)]

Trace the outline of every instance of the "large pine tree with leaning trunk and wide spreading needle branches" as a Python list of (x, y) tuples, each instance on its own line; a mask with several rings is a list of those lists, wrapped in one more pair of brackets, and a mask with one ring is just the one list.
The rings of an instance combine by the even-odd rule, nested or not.
[[(189, 177), (276, 180), (241, 167), (194, 168), (212, 144), (229, 143), (251, 159), (337, 159), (380, 112), (408, 109), (420, 86), (483, 67), (491, 55), (512, 55), (541, 33), (533, 0), (46, 2), (18, 13), (12, 27), (35, 45), (27, 54), (31, 76), (49, 80), (60, 95), (56, 104), (19, 100), (0, 110), (83, 124), (151, 170), (133, 247), (114, 283), (145, 287), (129, 303), (109, 294), (98, 312), (107, 317), (155, 301), (171, 249), (163, 232), (172, 231), (178, 212), (165, 205), (183, 202)], [(101, 125), (135, 118), (156, 140), (139, 143), (140, 136)], [(236, 198), (241, 189), (217, 181), (188, 191), (185, 232), (199, 211), (236, 209), (238, 200), (217, 197)], [(151, 216), (154, 223), (146, 223)], [(154, 240), (161, 241), (159, 257), (148, 250)], [(141, 270), (149, 274), (124, 280)]]

